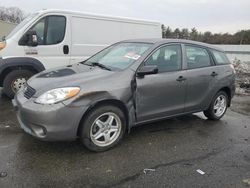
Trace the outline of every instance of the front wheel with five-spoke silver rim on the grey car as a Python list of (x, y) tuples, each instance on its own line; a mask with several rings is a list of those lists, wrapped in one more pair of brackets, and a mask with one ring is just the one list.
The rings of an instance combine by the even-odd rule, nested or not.
[[(111, 116), (113, 116), (113, 120)], [(126, 130), (126, 118), (120, 108), (103, 105), (91, 110), (80, 126), (80, 140), (85, 147), (95, 152), (106, 151), (122, 140)], [(116, 132), (112, 132), (115, 129), (117, 129)], [(98, 138), (99, 136), (100, 138)], [(111, 141), (108, 142), (109, 137)]]

